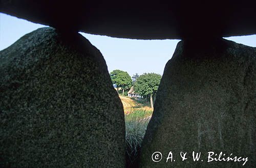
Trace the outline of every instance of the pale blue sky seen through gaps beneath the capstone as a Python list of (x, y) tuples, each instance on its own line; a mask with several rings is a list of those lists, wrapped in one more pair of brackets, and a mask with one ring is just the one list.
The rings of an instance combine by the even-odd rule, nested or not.
[[(20, 37), (38, 28), (47, 27), (24, 19), (0, 13), (0, 51)], [(109, 73), (114, 69), (127, 71), (130, 76), (138, 73), (162, 75), (164, 66), (172, 58), (180, 40), (136, 40), (81, 33), (103, 55)], [(256, 35), (228, 37), (228, 40), (256, 47)]]

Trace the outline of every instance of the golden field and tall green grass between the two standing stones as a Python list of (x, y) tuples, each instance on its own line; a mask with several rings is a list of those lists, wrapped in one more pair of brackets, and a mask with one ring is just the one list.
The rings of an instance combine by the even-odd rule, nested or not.
[(138, 167), (138, 155), (147, 124), (152, 116), (148, 103), (119, 95), (123, 108), (126, 128), (126, 167)]

